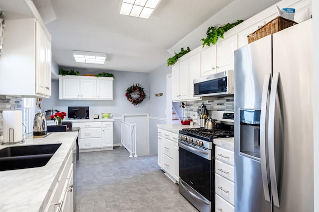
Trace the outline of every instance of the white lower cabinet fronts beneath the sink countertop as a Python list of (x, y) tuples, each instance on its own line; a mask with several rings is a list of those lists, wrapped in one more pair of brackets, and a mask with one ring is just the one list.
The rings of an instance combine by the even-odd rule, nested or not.
[(66, 163), (53, 188), (44, 212), (73, 212), (73, 151), (68, 153)]

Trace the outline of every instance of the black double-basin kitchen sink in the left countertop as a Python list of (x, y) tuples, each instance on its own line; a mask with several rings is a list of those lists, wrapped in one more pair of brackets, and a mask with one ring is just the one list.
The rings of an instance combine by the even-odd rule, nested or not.
[(0, 149), (0, 171), (44, 166), (60, 145), (55, 143)]

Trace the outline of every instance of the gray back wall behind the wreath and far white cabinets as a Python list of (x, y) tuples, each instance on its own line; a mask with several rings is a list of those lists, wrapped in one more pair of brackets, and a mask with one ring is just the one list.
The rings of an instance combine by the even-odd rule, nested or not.
[[(72, 68), (63, 68), (70, 70)], [(85, 69), (74, 69), (81, 74), (88, 73)], [(95, 72), (103, 72), (104, 70), (94, 70)], [(111, 113), (114, 122), (114, 143), (121, 143), (120, 123), (122, 114), (128, 113), (149, 113), (150, 104), (150, 83), (149, 73), (129, 72), (129, 71), (105, 71), (113, 73), (115, 79), (113, 81), (113, 100), (60, 100), (59, 99), (59, 81), (52, 80), (52, 96), (49, 99), (42, 99), (42, 112), (51, 109), (67, 112), (68, 106), (89, 106), (90, 117), (94, 114), (101, 117), (101, 113)], [(125, 96), (125, 91), (133, 83), (139, 83), (146, 92), (146, 99), (136, 106), (129, 102)]]

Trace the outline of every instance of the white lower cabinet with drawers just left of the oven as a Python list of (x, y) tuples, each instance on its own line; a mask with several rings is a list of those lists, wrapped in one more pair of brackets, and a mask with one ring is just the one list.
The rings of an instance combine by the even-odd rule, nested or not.
[(173, 182), (178, 183), (178, 135), (158, 129), (158, 165)]

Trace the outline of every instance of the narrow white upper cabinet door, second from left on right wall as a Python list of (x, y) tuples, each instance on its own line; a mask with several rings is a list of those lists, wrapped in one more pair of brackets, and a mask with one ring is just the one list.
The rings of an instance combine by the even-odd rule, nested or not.
[(189, 98), (189, 60), (186, 59), (179, 63), (179, 100)]

